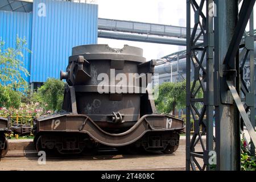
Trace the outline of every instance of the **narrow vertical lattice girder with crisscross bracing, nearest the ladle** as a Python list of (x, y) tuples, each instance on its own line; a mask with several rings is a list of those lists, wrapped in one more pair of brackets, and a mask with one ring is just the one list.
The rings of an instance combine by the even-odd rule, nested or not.
[[(187, 1), (187, 170), (210, 169), (209, 151), (213, 150), (213, 16), (208, 16), (212, 9), (211, 5), (213, 5), (212, 0), (201, 0), (200, 4), (195, 0)], [(192, 34), (189, 32), (191, 7), (195, 15)], [(200, 35), (204, 37), (204, 43), (197, 43), (199, 37), (195, 33), (198, 27), (201, 30)], [(203, 61), (207, 61), (206, 68), (203, 67)], [(194, 74), (193, 80), (192, 74)], [(203, 97), (200, 97), (200, 90), (203, 92)], [(192, 123), (195, 132), (191, 138)], [(203, 135), (206, 135), (206, 143)], [(196, 150), (197, 144), (201, 146), (199, 151)]]

